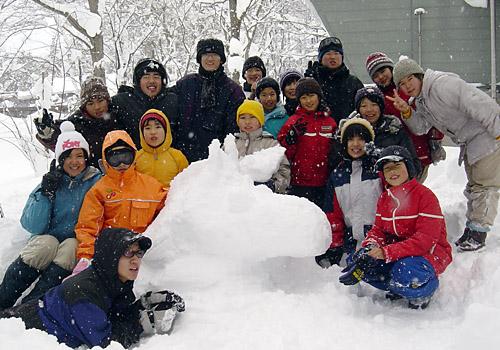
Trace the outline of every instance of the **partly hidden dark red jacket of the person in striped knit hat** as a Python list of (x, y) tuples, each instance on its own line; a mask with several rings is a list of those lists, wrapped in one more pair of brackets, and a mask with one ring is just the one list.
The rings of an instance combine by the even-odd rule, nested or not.
[[(435, 131), (433, 131), (432, 129), (425, 135), (415, 135), (414, 133), (412, 133), (411, 130), (404, 123), (403, 119), (401, 119), (401, 112), (398, 109), (396, 109), (392, 101), (390, 101), (387, 98), (387, 96), (394, 97), (394, 89), (396, 88), (396, 85), (394, 85), (394, 83), (391, 83), (389, 86), (386, 87), (379, 86), (379, 88), (384, 94), (384, 114), (394, 115), (403, 122), (405, 131), (408, 133), (408, 135), (410, 135), (410, 138), (413, 141), (413, 145), (415, 146), (415, 151), (417, 152), (418, 159), (420, 159), (420, 162), (422, 163), (422, 167), (431, 164), (432, 160), (429, 149), (429, 140), (431, 138), (440, 140), (443, 138), (444, 135), (440, 133), (438, 137), (433, 137), (434, 136), (433, 133)], [(406, 102), (408, 102), (408, 100), (410, 99), (410, 97), (405, 95), (405, 93), (401, 90), (398, 91), (398, 94), (399, 97), (401, 97)]]

